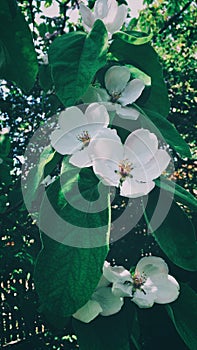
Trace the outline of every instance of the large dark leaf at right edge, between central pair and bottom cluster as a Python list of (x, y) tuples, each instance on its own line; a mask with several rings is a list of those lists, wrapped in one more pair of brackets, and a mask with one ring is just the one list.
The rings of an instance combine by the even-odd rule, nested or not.
[[(160, 218), (163, 218), (166, 209), (169, 212), (162, 222)], [(155, 188), (149, 194), (145, 215), (150, 232), (168, 258), (185, 270), (197, 270), (194, 227), (184, 211), (174, 201), (171, 204), (171, 198), (166, 191)]]

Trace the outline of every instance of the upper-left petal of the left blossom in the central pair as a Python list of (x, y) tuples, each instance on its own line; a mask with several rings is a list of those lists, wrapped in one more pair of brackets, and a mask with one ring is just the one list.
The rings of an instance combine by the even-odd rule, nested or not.
[(79, 108), (69, 107), (60, 113), (58, 124), (60, 129), (69, 132), (87, 124), (87, 118)]

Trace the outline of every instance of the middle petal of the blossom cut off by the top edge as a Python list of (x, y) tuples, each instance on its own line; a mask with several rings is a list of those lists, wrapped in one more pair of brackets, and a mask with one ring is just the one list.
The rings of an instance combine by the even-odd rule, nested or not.
[[(96, 0), (94, 5), (94, 14), (96, 19), (105, 19), (109, 13), (117, 12), (116, 0)], [(104, 22), (105, 23), (105, 22)]]

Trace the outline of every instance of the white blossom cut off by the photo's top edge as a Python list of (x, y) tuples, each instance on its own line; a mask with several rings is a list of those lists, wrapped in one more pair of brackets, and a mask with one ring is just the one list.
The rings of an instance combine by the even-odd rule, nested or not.
[(96, 0), (94, 13), (83, 3), (79, 5), (83, 26), (89, 32), (97, 19), (105, 24), (108, 32), (113, 34), (123, 25), (127, 17), (127, 6), (120, 5), (116, 0)]

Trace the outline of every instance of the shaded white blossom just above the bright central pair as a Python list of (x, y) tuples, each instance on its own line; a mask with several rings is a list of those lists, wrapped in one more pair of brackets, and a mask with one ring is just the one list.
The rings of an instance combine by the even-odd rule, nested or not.
[(135, 102), (145, 88), (141, 79), (130, 81), (130, 71), (124, 66), (112, 66), (105, 74), (105, 89), (89, 87), (83, 96), (84, 102), (104, 102), (108, 110), (116, 110), (116, 113), (124, 118), (136, 120), (140, 112), (127, 105)]

